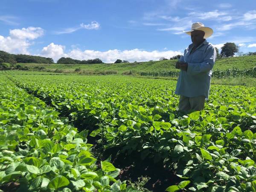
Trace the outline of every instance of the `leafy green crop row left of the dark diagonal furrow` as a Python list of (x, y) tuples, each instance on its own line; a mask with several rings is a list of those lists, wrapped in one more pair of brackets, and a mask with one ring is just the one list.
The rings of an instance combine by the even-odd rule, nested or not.
[(87, 133), (0, 76), (0, 191), (136, 192), (93, 157)]

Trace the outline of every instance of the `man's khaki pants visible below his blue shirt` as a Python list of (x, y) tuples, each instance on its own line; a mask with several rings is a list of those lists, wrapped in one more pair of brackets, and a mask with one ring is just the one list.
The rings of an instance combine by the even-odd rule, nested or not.
[(201, 111), (204, 109), (205, 96), (186, 97), (181, 95), (179, 110), (183, 112)]

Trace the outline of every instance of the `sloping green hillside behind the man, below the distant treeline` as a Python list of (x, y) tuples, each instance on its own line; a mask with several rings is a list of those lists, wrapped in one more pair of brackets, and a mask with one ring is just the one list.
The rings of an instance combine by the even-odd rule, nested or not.
[[(70, 70), (81, 68), (81, 70), (91, 71), (104, 71), (104, 70), (115, 70), (118, 73), (123, 73), (129, 70), (135, 71), (170, 71), (176, 70), (175, 63), (177, 60), (167, 61), (148, 61), (138, 63), (121, 63), (121, 64), (20, 64), (27, 66), (30, 70), (35, 67), (44, 67), (46, 69), (61, 69)], [(256, 55), (243, 56), (243, 57), (232, 57), (232, 58), (218, 58), (214, 69), (225, 70), (229, 68), (252, 68), (256, 67)]]

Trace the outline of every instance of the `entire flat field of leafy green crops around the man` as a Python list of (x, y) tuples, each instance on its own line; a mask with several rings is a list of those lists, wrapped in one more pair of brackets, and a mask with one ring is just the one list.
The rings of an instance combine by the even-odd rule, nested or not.
[(212, 85), (205, 110), (183, 114), (172, 80), (0, 78), (2, 187), (256, 191), (256, 87)]

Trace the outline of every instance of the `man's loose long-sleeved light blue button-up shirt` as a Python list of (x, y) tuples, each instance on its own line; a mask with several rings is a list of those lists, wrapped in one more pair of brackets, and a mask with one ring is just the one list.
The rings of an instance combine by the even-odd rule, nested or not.
[(192, 48), (193, 44), (190, 44), (179, 59), (188, 63), (188, 69), (180, 70), (175, 94), (186, 97), (205, 96), (208, 99), (212, 67), (217, 52), (215, 47), (206, 40), (190, 54)]

